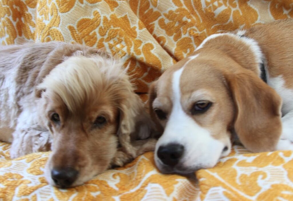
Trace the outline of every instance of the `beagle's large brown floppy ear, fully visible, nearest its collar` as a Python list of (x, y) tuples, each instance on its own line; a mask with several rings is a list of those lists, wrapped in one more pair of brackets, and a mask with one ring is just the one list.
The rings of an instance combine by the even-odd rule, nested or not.
[(234, 99), (239, 140), (252, 152), (275, 150), (282, 130), (279, 95), (249, 70), (225, 77)]

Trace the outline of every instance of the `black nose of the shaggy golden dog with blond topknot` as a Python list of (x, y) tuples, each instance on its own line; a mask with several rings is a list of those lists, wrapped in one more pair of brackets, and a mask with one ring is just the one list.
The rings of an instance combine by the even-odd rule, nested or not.
[(78, 171), (74, 168), (53, 168), (51, 177), (56, 185), (67, 188), (74, 183), (78, 176)]

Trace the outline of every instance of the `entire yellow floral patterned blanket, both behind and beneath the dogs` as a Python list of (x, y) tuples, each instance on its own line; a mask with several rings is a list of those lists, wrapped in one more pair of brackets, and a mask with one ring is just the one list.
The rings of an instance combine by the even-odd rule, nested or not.
[[(205, 37), (293, 17), (293, 0), (0, 0), (0, 43), (59, 40), (105, 48), (149, 84)], [(162, 175), (146, 153), (85, 185), (59, 190), (43, 175), (50, 153), (11, 160), (0, 143), (0, 200), (293, 200), (293, 152), (241, 146), (194, 178)]]

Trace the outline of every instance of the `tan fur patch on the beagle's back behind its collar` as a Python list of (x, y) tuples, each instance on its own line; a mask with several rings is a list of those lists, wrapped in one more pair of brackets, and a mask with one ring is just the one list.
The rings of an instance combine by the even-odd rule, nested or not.
[(277, 20), (267, 25), (255, 26), (246, 32), (246, 36), (255, 39), (267, 60), (271, 77), (282, 75), (286, 86), (293, 88), (293, 19)]

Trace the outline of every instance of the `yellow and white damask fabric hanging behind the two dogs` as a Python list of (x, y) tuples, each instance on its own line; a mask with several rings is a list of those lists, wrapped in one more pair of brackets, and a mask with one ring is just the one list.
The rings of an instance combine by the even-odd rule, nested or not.
[(1, 0), (0, 44), (52, 40), (105, 48), (137, 92), (205, 37), (293, 16), (292, 0)]

